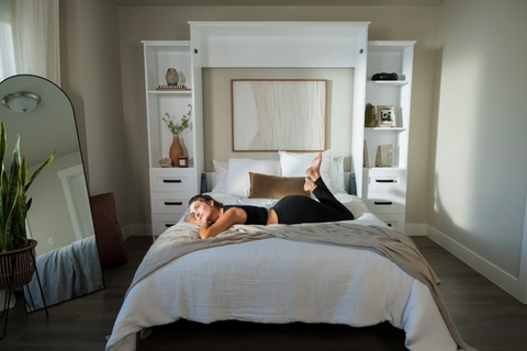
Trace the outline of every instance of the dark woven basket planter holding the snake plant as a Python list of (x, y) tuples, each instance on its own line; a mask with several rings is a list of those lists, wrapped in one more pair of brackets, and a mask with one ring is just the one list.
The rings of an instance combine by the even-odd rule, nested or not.
[(30, 239), (25, 248), (0, 253), (0, 291), (23, 286), (35, 272), (36, 240)]

